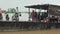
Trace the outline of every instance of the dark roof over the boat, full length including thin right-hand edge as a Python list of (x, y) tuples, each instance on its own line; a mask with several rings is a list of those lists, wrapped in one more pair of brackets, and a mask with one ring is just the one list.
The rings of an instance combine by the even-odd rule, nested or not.
[(60, 7), (58, 5), (52, 5), (52, 4), (42, 4), (42, 5), (30, 5), (30, 6), (25, 6), (26, 8), (34, 8), (34, 9), (44, 9), (47, 10), (49, 6), (52, 7)]

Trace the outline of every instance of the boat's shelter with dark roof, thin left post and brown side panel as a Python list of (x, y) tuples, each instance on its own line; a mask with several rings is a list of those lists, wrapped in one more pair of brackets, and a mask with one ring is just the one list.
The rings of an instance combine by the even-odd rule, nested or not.
[[(50, 15), (60, 16), (60, 6), (58, 5), (52, 5), (52, 4), (42, 4), (42, 5), (31, 5), (31, 6), (25, 6), (26, 8), (29, 8), (29, 15), (30, 15), (30, 8), (33, 9), (40, 9), (40, 10), (47, 10), (48, 17), (50, 19)], [(29, 16), (30, 17), (30, 16)], [(29, 18), (30, 20), (30, 18)], [(56, 19), (58, 20), (58, 19)]]

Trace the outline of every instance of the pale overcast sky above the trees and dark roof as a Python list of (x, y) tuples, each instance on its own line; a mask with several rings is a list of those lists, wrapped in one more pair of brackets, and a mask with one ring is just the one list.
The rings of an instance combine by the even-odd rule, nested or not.
[(19, 7), (19, 11), (26, 11), (24, 6), (37, 4), (60, 5), (60, 0), (0, 0), (0, 8), (8, 9)]

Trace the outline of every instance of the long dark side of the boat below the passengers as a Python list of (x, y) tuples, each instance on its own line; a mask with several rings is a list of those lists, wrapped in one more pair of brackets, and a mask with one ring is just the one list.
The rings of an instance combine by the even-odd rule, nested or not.
[[(47, 26), (47, 27), (46, 27)], [(60, 23), (40, 23), (31, 21), (0, 21), (0, 28), (50, 28), (56, 27), (60, 28)]]

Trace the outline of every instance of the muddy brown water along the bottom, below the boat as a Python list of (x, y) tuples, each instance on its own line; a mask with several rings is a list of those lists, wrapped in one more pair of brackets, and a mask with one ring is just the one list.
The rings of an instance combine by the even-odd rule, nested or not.
[(35, 30), (35, 31), (0, 32), (0, 34), (60, 34), (60, 29)]

